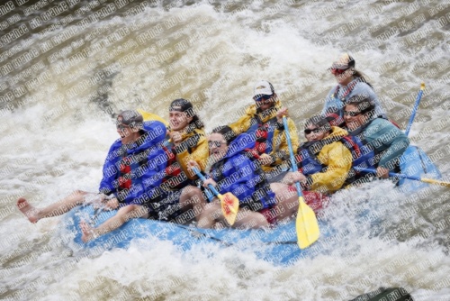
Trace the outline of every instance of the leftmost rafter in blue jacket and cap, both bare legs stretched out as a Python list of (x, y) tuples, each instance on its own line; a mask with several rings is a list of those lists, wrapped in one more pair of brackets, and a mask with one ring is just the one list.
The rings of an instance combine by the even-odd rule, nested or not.
[(109, 209), (120, 208), (117, 214), (92, 229), (82, 223), (82, 239), (87, 242), (97, 235), (110, 232), (132, 217), (156, 215), (154, 209), (159, 199), (152, 191), (161, 183), (156, 177), (166, 168), (166, 153), (161, 145), (165, 141), (166, 126), (157, 121), (143, 122), (137, 111), (123, 111), (117, 117), (117, 132), (121, 138), (112, 143), (103, 165), (100, 193), (76, 190), (71, 195), (43, 208), (28, 204), (20, 198), (17, 205), (31, 223), (42, 218), (67, 213), (76, 205), (93, 201), (103, 203)]

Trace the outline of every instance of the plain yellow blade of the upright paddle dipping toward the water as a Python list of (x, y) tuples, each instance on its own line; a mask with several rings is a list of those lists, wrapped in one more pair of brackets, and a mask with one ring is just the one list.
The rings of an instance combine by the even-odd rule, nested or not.
[(306, 205), (303, 196), (299, 196), (299, 212), (295, 222), (297, 230), (297, 243), (300, 249), (305, 249), (316, 242), (320, 236), (319, 223), (316, 214), (309, 205)]

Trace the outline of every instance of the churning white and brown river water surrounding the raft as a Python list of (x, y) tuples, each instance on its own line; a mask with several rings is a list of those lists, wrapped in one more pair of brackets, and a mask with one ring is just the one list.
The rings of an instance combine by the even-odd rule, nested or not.
[[(211, 130), (237, 120), (266, 79), (302, 128), (336, 85), (327, 68), (346, 51), (403, 129), (426, 83), (410, 141), (447, 180), (449, 5), (2, 1), (0, 298), (348, 300), (404, 287), (415, 300), (450, 300), (445, 187), (406, 195), (378, 181), (338, 193), (321, 217), (338, 239), (288, 267), (156, 239), (78, 258), (58, 237), (59, 218), (31, 224), (14, 205), (21, 196), (41, 206), (75, 189), (96, 191), (118, 138), (112, 114), (122, 109), (166, 118), (170, 101), (184, 97)], [(358, 220), (363, 212), (380, 223)]]

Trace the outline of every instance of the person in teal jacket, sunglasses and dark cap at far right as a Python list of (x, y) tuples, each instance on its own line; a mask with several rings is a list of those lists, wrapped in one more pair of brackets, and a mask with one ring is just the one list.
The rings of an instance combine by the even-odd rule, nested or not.
[(388, 178), (389, 171), (400, 171), (400, 158), (410, 140), (395, 125), (376, 116), (374, 102), (364, 95), (352, 96), (344, 108), (344, 120), (350, 135), (374, 150), (377, 176)]

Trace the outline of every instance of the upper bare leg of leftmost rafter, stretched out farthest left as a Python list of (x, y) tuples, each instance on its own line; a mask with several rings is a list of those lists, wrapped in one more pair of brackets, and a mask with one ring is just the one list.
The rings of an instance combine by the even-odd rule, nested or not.
[(76, 190), (69, 196), (66, 196), (62, 200), (48, 205), (44, 208), (36, 208), (28, 203), (23, 197), (17, 200), (17, 207), (19, 210), (28, 217), (31, 223), (38, 222), (41, 218), (58, 216), (65, 214), (74, 208), (76, 205), (81, 205), (85, 201), (85, 196), (89, 194), (88, 192)]

